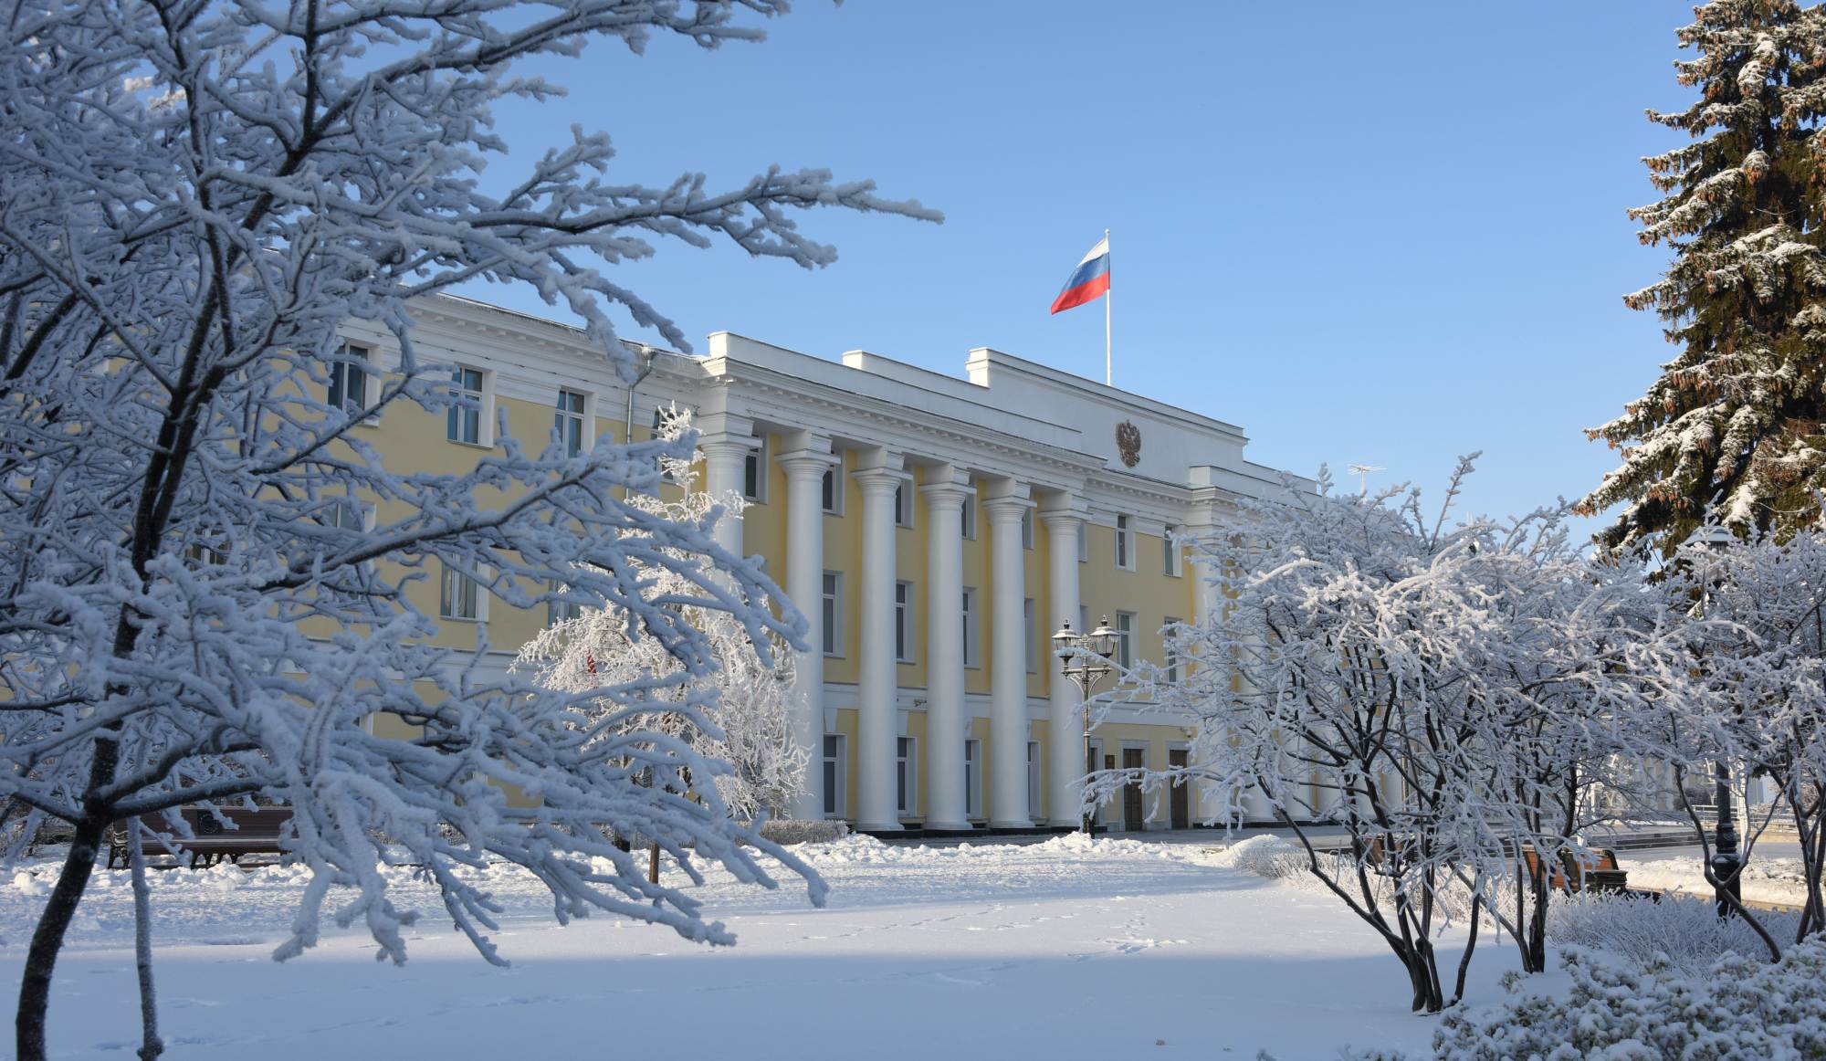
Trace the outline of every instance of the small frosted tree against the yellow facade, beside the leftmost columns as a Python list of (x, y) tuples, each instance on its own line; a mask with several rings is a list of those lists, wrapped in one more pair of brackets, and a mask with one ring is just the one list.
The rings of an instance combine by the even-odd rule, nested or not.
[[(679, 438), (688, 429), (690, 413), (674, 411), (661, 435)], [(705, 528), (707, 533), (723, 515), (740, 513), (745, 504), (740, 495), (714, 497), (698, 489), (694, 460), (696, 455), (690, 460), (661, 460), (676, 497), (665, 497), (672, 491), (637, 493), (628, 504), (670, 522)], [(694, 597), (692, 586), (672, 568), (641, 570), (639, 575), (652, 581), (656, 601)], [(749, 628), (723, 608), (685, 604), (679, 614), (708, 639), (714, 670), (679, 672), (665, 646), (645, 636), (635, 615), (619, 606), (586, 606), (540, 630), (520, 646), (515, 667), (531, 668), (540, 685), (564, 692), (646, 688), (646, 710), (626, 710), (623, 698), (610, 696), (581, 725), (615, 718), (615, 729), (608, 732), (632, 732), (635, 740), (643, 732), (679, 740), (714, 771), (687, 778), (694, 791), (707, 791), (705, 782), (714, 780), (710, 787), (738, 820), (778, 814), (805, 789), (805, 765), (811, 762), (811, 752), (792, 734), (791, 646), (772, 634), (767, 652), (758, 654)], [(692, 710), (677, 710), (685, 705)], [(701, 725), (699, 716), (712, 725)]]

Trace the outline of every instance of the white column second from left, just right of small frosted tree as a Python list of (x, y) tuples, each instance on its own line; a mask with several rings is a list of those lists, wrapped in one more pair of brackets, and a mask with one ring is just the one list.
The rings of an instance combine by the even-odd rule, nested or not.
[(824, 816), (824, 473), (836, 455), (814, 440), (780, 455), (787, 473), (787, 595), (805, 617), (805, 650), (792, 667), (792, 740), (811, 756), (794, 818)]

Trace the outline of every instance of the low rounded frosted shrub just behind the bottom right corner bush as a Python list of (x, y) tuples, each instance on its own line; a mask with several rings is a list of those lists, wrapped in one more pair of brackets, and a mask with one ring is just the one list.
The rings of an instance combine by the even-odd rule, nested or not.
[[(1799, 915), (1758, 913), (1777, 939), (1793, 939)], [(1674, 968), (1700, 973), (1724, 951), (1762, 957), (1764, 946), (1740, 917), (1720, 919), (1709, 898), (1665, 895), (1603, 895), (1585, 891), (1556, 902), (1547, 935), (1559, 946), (1587, 946), (1638, 966), (1662, 955)]]

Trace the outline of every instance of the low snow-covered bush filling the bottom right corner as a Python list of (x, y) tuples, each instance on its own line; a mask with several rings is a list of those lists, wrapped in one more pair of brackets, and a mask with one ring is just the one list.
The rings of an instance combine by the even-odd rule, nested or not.
[[(1674, 962), (1611, 962), (1563, 951), (1572, 988), (1503, 982), (1508, 1001), (1453, 1010), (1433, 1034), (1433, 1061), (1811, 1061), (1826, 1057), (1826, 942), (1808, 940), (1780, 962), (1729, 953), (1702, 975)], [(1402, 1052), (1348, 1052), (1351, 1061), (1411, 1061)]]

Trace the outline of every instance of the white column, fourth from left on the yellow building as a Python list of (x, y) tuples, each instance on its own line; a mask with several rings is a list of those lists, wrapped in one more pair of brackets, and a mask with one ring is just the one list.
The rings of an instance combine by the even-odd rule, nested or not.
[(940, 467), (926, 495), (926, 827), (970, 829), (964, 796), (964, 499), (970, 475)]

